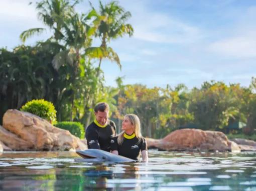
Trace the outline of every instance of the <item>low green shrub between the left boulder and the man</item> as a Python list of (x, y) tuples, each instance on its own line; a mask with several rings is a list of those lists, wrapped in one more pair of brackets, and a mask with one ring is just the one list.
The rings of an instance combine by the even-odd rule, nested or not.
[(69, 130), (69, 132), (79, 138), (84, 138), (85, 132), (83, 125), (80, 122), (62, 121), (57, 122), (55, 126)]

